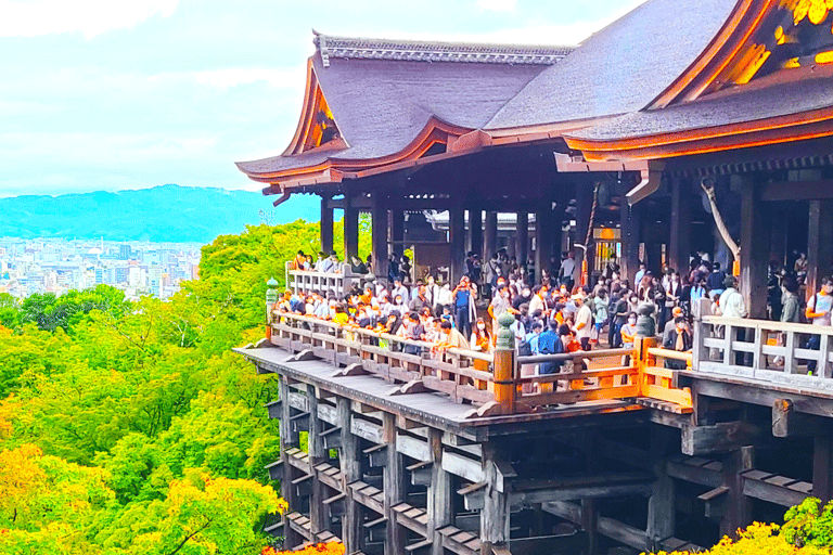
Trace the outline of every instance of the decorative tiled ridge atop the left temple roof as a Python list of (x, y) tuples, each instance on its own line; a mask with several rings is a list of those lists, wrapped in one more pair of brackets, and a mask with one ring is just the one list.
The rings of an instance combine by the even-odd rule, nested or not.
[(406, 39), (334, 37), (317, 31), (313, 43), (324, 67), (331, 57), (396, 60), (406, 62), (461, 62), (480, 64), (553, 65), (575, 47), (542, 44), (497, 44)]

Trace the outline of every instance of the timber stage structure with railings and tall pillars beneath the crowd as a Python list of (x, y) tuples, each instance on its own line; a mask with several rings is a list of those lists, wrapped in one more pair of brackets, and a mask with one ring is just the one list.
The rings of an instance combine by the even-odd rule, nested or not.
[[(812, 351), (769, 340), (810, 326), (703, 313), (693, 353), (642, 338), (632, 351), (515, 357), (501, 324), (494, 354), (431, 353), (273, 313), (267, 339), (236, 349), (280, 382), (268, 469), (290, 512), (267, 530), (286, 547), (341, 540), (347, 553), (638, 553), (695, 550), (831, 499), (833, 332)], [(774, 357), (819, 366), (779, 371)], [(562, 373), (524, 372), (548, 361)]]

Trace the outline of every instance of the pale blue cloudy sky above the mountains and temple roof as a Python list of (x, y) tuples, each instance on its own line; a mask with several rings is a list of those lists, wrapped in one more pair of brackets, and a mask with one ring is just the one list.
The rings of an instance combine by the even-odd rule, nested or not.
[(0, 0), (0, 196), (165, 183), (259, 190), (311, 29), (574, 44), (642, 0)]

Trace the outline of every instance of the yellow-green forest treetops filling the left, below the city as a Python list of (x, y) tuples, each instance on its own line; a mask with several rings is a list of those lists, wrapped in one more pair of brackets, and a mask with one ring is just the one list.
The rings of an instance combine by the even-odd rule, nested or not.
[(0, 296), (0, 555), (268, 544), (264, 519), (285, 508), (264, 470), (277, 384), (230, 349), (262, 337), (267, 280), (318, 236), (297, 221), (217, 237), (164, 302)]

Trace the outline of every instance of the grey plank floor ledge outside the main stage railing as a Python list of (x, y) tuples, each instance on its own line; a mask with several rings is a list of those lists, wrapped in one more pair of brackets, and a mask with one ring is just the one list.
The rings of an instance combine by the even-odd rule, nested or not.
[(463, 436), (472, 436), (472, 439), (478, 440), (483, 440), (486, 436), (494, 433), (501, 433), (497, 429), (486, 429), (492, 426), (625, 413), (643, 409), (638, 404), (626, 401), (592, 401), (562, 405), (529, 414), (466, 418), (466, 413), (474, 405), (456, 403), (443, 393), (423, 392), (389, 396), (387, 393), (395, 387), (394, 384), (387, 383), (380, 377), (373, 375), (333, 377), (336, 369), (328, 362), (320, 360), (287, 361), (292, 353), (280, 348), (241, 348), (234, 349), (234, 351), (266, 370), (319, 386), (328, 391), (342, 395), (382, 411), (400, 414), (406, 418), (427, 426), (446, 429)]

